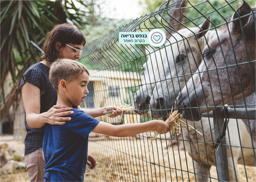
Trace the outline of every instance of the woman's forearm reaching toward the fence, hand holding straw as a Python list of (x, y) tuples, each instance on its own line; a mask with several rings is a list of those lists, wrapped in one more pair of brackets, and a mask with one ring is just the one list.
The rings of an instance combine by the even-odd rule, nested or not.
[(86, 108), (81, 108), (80, 105), (78, 105), (77, 109), (84, 111), (85, 113), (91, 115), (93, 118), (103, 116), (105, 115), (106, 112), (111, 110), (113, 115), (109, 116), (110, 118), (114, 118), (122, 114), (122, 111), (120, 111), (119, 109), (116, 109), (115, 106), (106, 106), (106, 107), (101, 107), (96, 109), (86, 109)]

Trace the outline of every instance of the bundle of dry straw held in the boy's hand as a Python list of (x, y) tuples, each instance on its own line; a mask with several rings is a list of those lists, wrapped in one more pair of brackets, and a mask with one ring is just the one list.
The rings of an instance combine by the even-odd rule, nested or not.
[[(173, 107), (172, 107), (172, 110), (173, 110)], [(190, 128), (193, 128), (195, 130), (195, 128), (193, 126), (187, 124), (186, 122), (184, 122), (182, 120), (183, 119), (182, 115), (178, 113), (178, 110), (175, 110), (174, 112), (172, 112), (172, 110), (169, 114), (169, 118), (167, 118), (167, 120), (165, 121), (169, 125), (170, 129), (173, 131), (172, 139), (173, 139), (173, 136), (174, 136), (174, 132), (176, 132), (177, 135), (180, 134), (181, 129), (187, 128), (187, 125), (188, 125), (189, 130), (190, 130)], [(151, 132), (154, 132), (154, 134), (152, 136), (149, 135)], [(200, 133), (198, 130), (196, 130), (196, 132), (198, 132), (199, 134), (202, 135), (202, 133)], [(150, 145), (151, 145), (152, 141), (154, 139), (156, 139), (156, 137), (158, 136), (159, 133), (156, 130), (153, 130), (153, 131), (147, 132), (145, 134), (150, 136), (150, 138), (151, 138)], [(143, 135), (145, 135), (145, 134), (143, 134)], [(172, 139), (171, 139), (170, 145), (172, 143)], [(169, 147), (170, 147), (170, 145), (169, 145)], [(169, 147), (168, 147), (167, 151), (169, 150)], [(149, 151), (150, 151), (150, 148), (149, 148)], [(167, 154), (167, 152), (166, 152), (166, 154)]]

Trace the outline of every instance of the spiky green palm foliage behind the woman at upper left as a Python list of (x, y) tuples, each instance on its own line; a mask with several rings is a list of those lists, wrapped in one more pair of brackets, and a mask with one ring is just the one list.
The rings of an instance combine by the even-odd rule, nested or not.
[[(30, 40), (42, 47), (46, 33), (56, 24), (73, 22), (75, 25), (87, 24), (83, 16), (85, 13), (78, 9), (74, 3), (87, 7), (83, 1), (1, 1), (1, 87), (8, 72), (11, 73), (14, 89), (10, 96), (16, 92), (21, 75), (32, 64), (38, 61), (41, 53), (30, 44)], [(15, 94), (14, 94), (15, 95)], [(6, 100), (3, 93), (1, 97), (1, 120), (13, 103), (13, 97)], [(17, 97), (16, 97), (17, 98)], [(4, 104), (3, 104), (4, 103)]]

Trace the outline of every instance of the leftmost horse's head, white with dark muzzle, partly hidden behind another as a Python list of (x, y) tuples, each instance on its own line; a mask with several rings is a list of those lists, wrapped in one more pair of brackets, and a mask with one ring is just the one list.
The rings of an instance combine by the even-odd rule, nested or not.
[[(148, 54), (147, 62), (143, 64), (143, 77), (141, 79), (141, 87), (135, 93), (134, 107), (138, 109), (137, 113), (141, 115), (150, 112), (149, 101), (152, 95), (152, 91), (156, 85), (156, 81), (159, 80), (158, 69), (162, 69), (162, 59), (160, 51), (152, 51), (145, 49), (145, 53)], [(164, 56), (164, 55), (163, 55)], [(150, 114), (150, 113), (148, 113)]]

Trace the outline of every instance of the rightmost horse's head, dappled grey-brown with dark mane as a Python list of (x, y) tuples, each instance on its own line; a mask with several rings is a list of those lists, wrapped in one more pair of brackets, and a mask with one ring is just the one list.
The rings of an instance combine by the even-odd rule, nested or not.
[[(207, 109), (210, 112), (214, 105), (221, 106), (232, 101), (232, 97), (239, 100), (243, 94), (246, 97), (255, 92), (255, 62), (249, 62), (255, 60), (255, 12), (248, 15), (250, 13), (249, 5), (243, 3), (227, 20), (228, 25), (218, 30), (209, 47), (205, 46), (199, 71), (177, 98), (178, 108), (188, 108), (183, 112), (186, 119), (198, 121), (199, 110), (200, 114)], [(190, 110), (191, 107), (196, 108)]]

